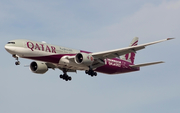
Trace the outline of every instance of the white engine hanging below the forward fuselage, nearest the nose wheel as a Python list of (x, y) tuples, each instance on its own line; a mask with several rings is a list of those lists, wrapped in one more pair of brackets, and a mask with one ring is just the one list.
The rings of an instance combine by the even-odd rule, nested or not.
[(30, 64), (32, 72), (37, 74), (44, 74), (48, 71), (48, 67), (44, 62), (34, 61)]

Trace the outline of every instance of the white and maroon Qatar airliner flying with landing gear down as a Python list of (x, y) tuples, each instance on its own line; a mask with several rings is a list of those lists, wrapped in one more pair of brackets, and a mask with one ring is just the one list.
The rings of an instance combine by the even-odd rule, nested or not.
[(166, 38), (138, 45), (139, 38), (135, 37), (129, 47), (94, 53), (26, 39), (9, 41), (5, 45), (5, 49), (17, 60), (15, 62), (16, 65), (20, 65), (19, 58), (35, 60), (29, 66), (32, 72), (44, 74), (50, 68), (53, 70), (58, 68), (63, 72), (59, 77), (65, 81), (71, 81), (72, 78), (68, 76), (67, 72), (84, 70), (86, 74), (93, 77), (97, 76), (97, 72), (121, 74), (139, 71), (140, 67), (143, 66), (164, 63), (163, 61), (159, 61), (134, 64), (136, 51), (145, 49), (146, 46), (171, 39), (174, 38)]

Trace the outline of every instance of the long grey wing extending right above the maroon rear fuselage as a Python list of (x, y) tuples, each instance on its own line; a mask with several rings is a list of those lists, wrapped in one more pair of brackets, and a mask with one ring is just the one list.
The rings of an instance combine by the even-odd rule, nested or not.
[(92, 56), (95, 59), (115, 58), (115, 57), (119, 57), (119, 56), (127, 54), (127, 53), (139, 51), (141, 49), (144, 49), (146, 46), (164, 42), (164, 41), (171, 40), (171, 39), (174, 39), (174, 38), (167, 38), (167, 39), (163, 39), (163, 40), (159, 40), (159, 41), (155, 41), (155, 42), (145, 43), (145, 44), (121, 48), (121, 49), (115, 49), (115, 50), (110, 50), (110, 51), (96, 52), (96, 53), (92, 53)]

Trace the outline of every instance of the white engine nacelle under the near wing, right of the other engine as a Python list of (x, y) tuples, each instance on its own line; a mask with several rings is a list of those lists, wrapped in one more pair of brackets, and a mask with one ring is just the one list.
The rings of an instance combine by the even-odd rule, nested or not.
[(84, 64), (86, 66), (90, 66), (94, 62), (94, 58), (91, 54), (78, 53), (75, 56), (75, 62), (77, 64)]

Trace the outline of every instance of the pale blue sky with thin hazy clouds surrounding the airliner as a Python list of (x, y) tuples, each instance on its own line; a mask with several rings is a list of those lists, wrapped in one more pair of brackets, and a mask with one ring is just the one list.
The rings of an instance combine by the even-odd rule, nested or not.
[[(138, 51), (139, 72), (90, 77), (83, 71), (32, 73), (32, 61), (4, 49), (12, 39), (99, 52), (168, 37)], [(1, 0), (0, 113), (180, 113), (180, 0)]]

